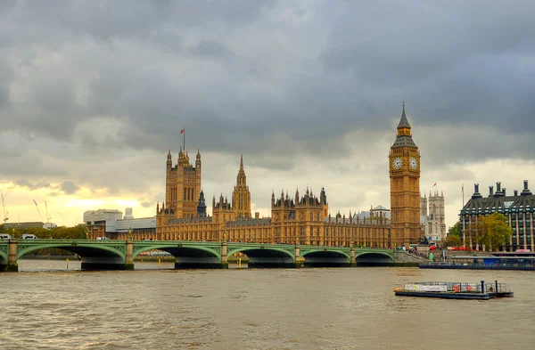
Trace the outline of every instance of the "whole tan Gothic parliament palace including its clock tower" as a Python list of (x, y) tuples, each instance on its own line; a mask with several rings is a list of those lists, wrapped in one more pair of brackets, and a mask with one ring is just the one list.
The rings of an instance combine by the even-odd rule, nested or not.
[(391, 210), (331, 216), (325, 188), (313, 193), (271, 194), (271, 216), (251, 215), (251, 191), (243, 165), (230, 200), (211, 199), (211, 216), (202, 191), (202, 159), (194, 164), (188, 152), (171, 151), (166, 163), (165, 201), (157, 205), (155, 240), (244, 241), (300, 245), (394, 248), (416, 243), (420, 229), (420, 153), (412, 140), (405, 103), (390, 154)]

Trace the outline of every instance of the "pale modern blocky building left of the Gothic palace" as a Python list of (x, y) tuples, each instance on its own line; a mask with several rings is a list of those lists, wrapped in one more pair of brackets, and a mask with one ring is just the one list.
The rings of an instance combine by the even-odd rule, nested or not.
[(119, 210), (88, 210), (84, 213), (87, 225), (87, 238), (108, 237), (111, 240), (149, 240), (155, 239), (156, 217), (134, 218), (132, 208), (125, 210), (123, 218)]

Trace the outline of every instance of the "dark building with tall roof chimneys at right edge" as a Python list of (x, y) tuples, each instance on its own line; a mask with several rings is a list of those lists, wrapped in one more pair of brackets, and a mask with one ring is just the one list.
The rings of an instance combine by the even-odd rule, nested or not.
[(479, 191), (479, 184), (473, 185), (473, 195), (459, 213), (461, 223), (461, 240), (472, 248), (481, 248), (475, 241), (474, 230), (481, 222), (483, 216), (495, 212), (507, 218), (507, 224), (513, 229), (511, 239), (506, 243), (506, 250), (516, 249), (533, 250), (533, 212), (535, 211), (535, 195), (528, 188), (528, 180), (523, 182), (523, 191), (514, 190), (513, 196), (506, 195), (506, 188), (501, 183), (489, 186), (489, 196), (483, 197)]

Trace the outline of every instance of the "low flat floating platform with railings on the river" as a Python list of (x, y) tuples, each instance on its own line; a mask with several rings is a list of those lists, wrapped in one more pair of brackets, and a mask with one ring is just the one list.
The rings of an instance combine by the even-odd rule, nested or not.
[(467, 283), (467, 282), (413, 282), (403, 288), (394, 289), (399, 297), (441, 297), (446, 299), (478, 299), (488, 300), (497, 297), (513, 297), (506, 283)]

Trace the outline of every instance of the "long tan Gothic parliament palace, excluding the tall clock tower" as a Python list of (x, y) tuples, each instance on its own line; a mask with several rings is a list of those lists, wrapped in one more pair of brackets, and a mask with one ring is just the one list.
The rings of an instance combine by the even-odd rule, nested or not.
[[(289, 243), (303, 245), (348, 246), (360, 245), (370, 248), (391, 248), (390, 220), (379, 211), (370, 217), (355, 219), (338, 214), (329, 214), (325, 189), (319, 197), (307, 189), (300, 196), (299, 191), (290, 198), (288, 193), (281, 192), (276, 197), (271, 195), (271, 217), (259, 217), (259, 213), (251, 216), (251, 192), (247, 185), (247, 177), (243, 167), (243, 156), (240, 169), (236, 176), (235, 190), (229, 201), (221, 194), (212, 199), (212, 216), (191, 215), (192, 208), (187, 193), (201, 194), (201, 155), (197, 153), (198, 166), (194, 167), (194, 186), (191, 191), (177, 191), (180, 188), (172, 183), (187, 183), (180, 176), (187, 176), (191, 167), (188, 161), (180, 158), (175, 167), (172, 166), (170, 152), (168, 155), (168, 173), (166, 199), (170, 205), (157, 205), (155, 240), (207, 240), (207, 241), (244, 241), (263, 243)], [(184, 157), (184, 156), (182, 156)], [(170, 170), (169, 170), (170, 169)], [(196, 173), (198, 171), (198, 173)], [(172, 173), (171, 173), (172, 172)], [(172, 175), (169, 175), (172, 174)], [(192, 176), (193, 179), (193, 176)], [(170, 184), (171, 183), (171, 184)], [(193, 180), (189, 183), (193, 183)], [(185, 188), (185, 187), (184, 187)], [(171, 193), (169, 193), (171, 191)], [(178, 196), (182, 193), (182, 197)], [(188, 205), (185, 206), (184, 203)], [(202, 213), (204, 197), (198, 197), (198, 209)]]

